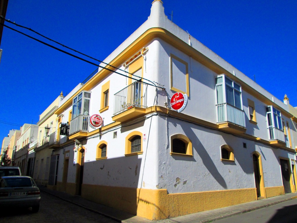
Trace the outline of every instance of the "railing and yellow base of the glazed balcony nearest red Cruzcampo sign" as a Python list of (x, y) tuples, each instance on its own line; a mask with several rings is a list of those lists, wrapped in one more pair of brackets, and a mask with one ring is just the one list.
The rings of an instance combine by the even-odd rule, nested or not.
[(217, 123), (219, 128), (229, 132), (245, 132), (244, 111), (228, 103), (217, 104)]

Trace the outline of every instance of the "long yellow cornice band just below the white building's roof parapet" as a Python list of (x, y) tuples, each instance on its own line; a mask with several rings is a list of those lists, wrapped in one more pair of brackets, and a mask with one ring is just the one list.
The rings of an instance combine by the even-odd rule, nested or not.
[[(111, 62), (110, 65), (114, 67), (120, 67), (127, 59), (129, 59), (131, 56), (133, 56), (136, 52), (139, 51), (139, 49), (143, 48), (144, 45), (149, 43), (154, 38), (160, 38), (164, 40), (165, 42), (169, 43), (170, 45), (173, 45), (176, 49), (180, 50), (184, 54), (192, 57), (192, 59), (198, 61), (202, 65), (208, 67), (209, 69), (213, 70), (217, 74), (225, 73), (226, 76), (236, 81), (238, 84), (241, 84), (241, 87), (244, 91), (248, 92), (250, 95), (255, 96), (257, 99), (265, 103), (266, 105), (273, 105), (276, 109), (278, 109), (283, 116), (292, 118), (293, 115), (287, 112), (285, 109), (282, 109), (279, 107), (276, 103), (274, 103), (271, 99), (266, 98), (264, 95), (257, 92), (255, 89), (250, 87), (248, 84), (246, 84), (244, 81), (240, 80), (236, 76), (233, 75), (233, 73), (228, 72), (221, 66), (217, 65), (214, 61), (194, 49), (192, 46), (190, 46), (188, 43), (184, 42), (183, 40), (179, 39), (172, 33), (168, 32), (165, 29), (162, 28), (151, 28), (148, 29), (146, 32), (144, 32), (140, 37), (138, 37), (131, 45), (129, 45), (126, 49), (124, 49), (118, 56), (116, 56)], [(131, 66), (131, 65), (130, 65)], [(113, 67), (110, 67), (109, 65), (105, 66), (108, 69), (114, 70)], [(130, 70), (129, 70), (130, 72)], [(91, 90), (94, 86), (96, 86), (100, 81), (102, 81), (104, 78), (106, 78), (108, 75), (110, 75), (111, 72), (105, 69), (100, 70), (93, 78), (92, 81), (88, 81), (86, 84), (84, 84), (78, 92), (82, 90)], [(55, 114), (61, 114), (64, 112), (67, 107), (71, 106), (73, 98), (78, 94), (76, 92), (72, 97), (70, 97), (62, 106), (60, 106)]]

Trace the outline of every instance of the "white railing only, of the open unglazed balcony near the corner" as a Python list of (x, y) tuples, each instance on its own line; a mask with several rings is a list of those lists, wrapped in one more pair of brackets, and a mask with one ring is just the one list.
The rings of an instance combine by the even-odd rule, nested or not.
[(119, 114), (132, 107), (147, 108), (147, 84), (134, 82), (114, 94), (113, 114)]

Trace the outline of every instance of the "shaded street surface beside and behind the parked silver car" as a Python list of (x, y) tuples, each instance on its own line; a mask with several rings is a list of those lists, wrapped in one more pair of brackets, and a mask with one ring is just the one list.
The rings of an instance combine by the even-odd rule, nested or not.
[(61, 200), (53, 195), (41, 192), (40, 209), (32, 213), (29, 209), (10, 208), (1, 210), (1, 222), (33, 223), (33, 222), (102, 222), (114, 223), (116, 221), (100, 214), (88, 211), (72, 203)]

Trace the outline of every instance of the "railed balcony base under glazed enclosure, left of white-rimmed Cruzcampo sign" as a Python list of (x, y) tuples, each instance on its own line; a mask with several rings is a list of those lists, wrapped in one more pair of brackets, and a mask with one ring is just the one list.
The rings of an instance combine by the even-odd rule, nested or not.
[[(88, 117), (89, 115), (80, 114), (70, 121), (69, 139), (81, 138), (87, 135), (89, 132)], [(79, 134), (73, 136), (75, 133)]]

